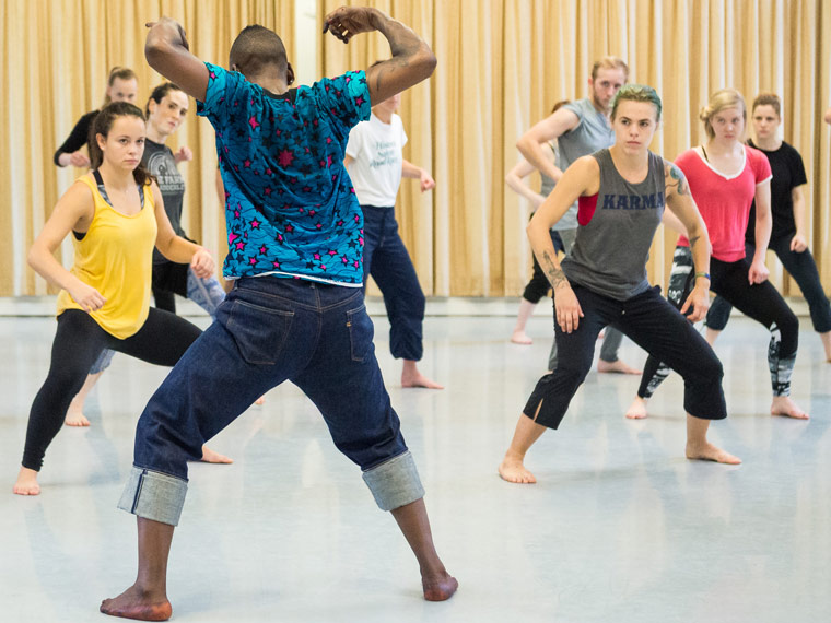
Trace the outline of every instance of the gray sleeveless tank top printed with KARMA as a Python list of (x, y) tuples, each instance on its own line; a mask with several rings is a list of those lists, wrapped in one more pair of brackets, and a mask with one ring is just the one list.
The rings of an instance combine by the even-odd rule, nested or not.
[(630, 184), (608, 149), (592, 156), (600, 165), (600, 189), (578, 200), (577, 238), (563, 259), (563, 272), (597, 294), (625, 301), (649, 287), (646, 260), (664, 214), (665, 161), (648, 152), (646, 178)]

